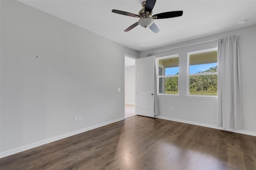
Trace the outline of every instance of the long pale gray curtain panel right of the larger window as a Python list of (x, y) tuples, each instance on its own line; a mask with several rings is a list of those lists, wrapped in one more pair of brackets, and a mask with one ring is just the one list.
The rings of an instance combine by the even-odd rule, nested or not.
[(242, 128), (238, 36), (218, 39), (218, 127)]

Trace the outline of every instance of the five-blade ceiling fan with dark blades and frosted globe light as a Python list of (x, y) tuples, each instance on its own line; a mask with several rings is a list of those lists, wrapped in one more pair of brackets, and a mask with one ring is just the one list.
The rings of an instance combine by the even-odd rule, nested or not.
[(164, 19), (164, 18), (174, 18), (178, 16), (182, 16), (183, 11), (171, 11), (171, 12), (163, 12), (160, 14), (153, 15), (153, 8), (156, 4), (156, 0), (146, 0), (142, 2), (142, 9), (139, 11), (139, 14), (132, 14), (130, 12), (124, 12), (120, 10), (112, 10), (112, 12), (116, 14), (126, 15), (126, 16), (132, 16), (136, 18), (140, 18), (138, 22), (132, 24), (130, 27), (126, 28), (124, 31), (128, 32), (135, 28), (136, 26), (140, 25), (144, 28), (149, 27), (150, 30), (152, 30), (154, 33), (158, 33), (159, 29), (154, 23), (153, 19)]

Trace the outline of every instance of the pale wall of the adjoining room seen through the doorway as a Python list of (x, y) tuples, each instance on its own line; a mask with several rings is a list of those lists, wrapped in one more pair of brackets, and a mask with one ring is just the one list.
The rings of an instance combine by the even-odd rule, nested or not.
[(124, 69), (125, 103), (135, 104), (135, 66), (125, 67)]

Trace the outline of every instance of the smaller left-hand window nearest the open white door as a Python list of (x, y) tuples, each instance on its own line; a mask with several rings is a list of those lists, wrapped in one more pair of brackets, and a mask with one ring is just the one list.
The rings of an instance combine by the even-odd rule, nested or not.
[(158, 94), (178, 95), (179, 56), (171, 55), (156, 59), (158, 65)]

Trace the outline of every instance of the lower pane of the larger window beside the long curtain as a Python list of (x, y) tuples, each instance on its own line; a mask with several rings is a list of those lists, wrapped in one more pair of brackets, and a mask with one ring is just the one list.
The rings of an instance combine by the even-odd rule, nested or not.
[(217, 95), (217, 74), (189, 76), (190, 95)]

